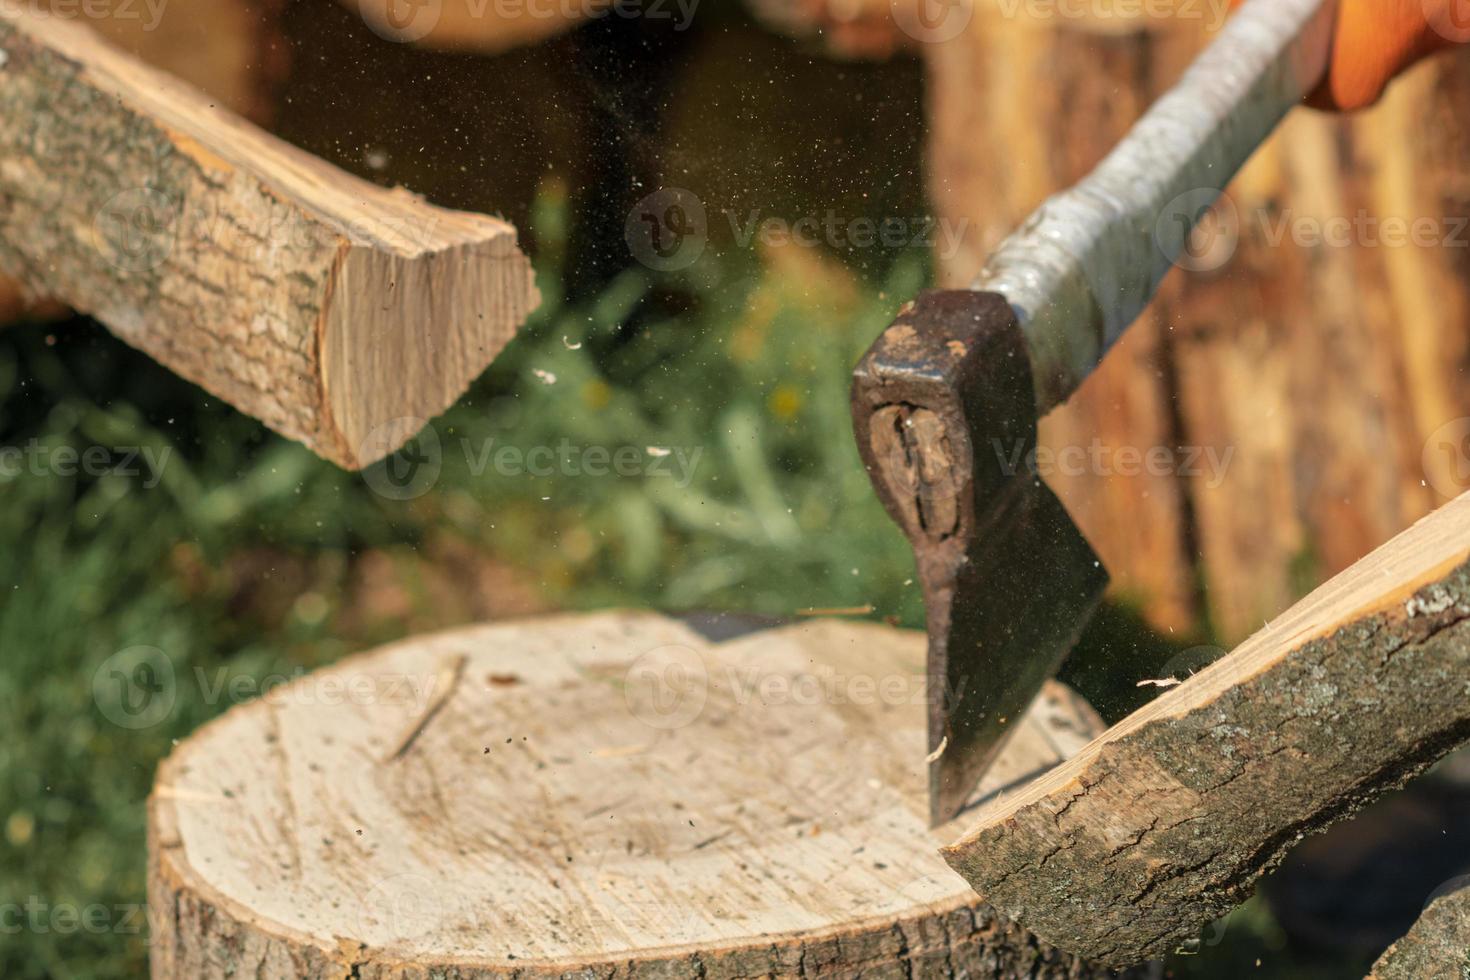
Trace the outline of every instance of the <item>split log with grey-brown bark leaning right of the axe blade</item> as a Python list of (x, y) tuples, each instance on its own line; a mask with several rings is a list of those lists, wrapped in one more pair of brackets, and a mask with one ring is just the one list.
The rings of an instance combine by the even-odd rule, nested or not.
[(1172, 952), (1295, 840), (1470, 738), (1467, 560), (1463, 495), (983, 808), (945, 857), (1063, 949)]

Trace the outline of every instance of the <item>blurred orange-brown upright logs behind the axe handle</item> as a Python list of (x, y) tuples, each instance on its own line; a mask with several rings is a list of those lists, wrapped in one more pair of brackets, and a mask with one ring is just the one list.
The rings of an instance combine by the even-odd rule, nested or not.
[[(961, 34), (925, 46), (932, 194), (963, 231), (942, 285), (1085, 175), (1225, 13), (1057, 10), (976, 0)], [(1045, 447), (1073, 447), (1051, 485), (1155, 626), (1239, 641), (1470, 488), (1467, 82), (1470, 54), (1451, 53), (1361, 115), (1292, 113), (1195, 269), (1044, 422)]]

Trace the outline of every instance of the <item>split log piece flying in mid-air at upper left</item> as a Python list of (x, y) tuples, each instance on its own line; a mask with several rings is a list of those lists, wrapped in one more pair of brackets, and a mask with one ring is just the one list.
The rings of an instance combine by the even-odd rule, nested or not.
[(0, 0), (0, 269), (356, 469), (538, 294), (509, 223), (384, 190)]

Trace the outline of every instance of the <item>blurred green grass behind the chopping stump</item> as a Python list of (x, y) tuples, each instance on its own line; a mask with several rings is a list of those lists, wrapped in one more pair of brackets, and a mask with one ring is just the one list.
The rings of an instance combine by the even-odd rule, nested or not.
[[(632, 272), (567, 306), (562, 223), (547, 198), (535, 222), (545, 306), (435, 420), (441, 469), (410, 500), (265, 432), (97, 328), (0, 334), (0, 445), (168, 453), (157, 475), (0, 479), (0, 907), (35, 896), (44, 908), (40, 926), (0, 932), (0, 977), (144, 976), (143, 802), (172, 741), (229, 707), (197, 677), (290, 674), (463, 619), (434, 576), (447, 548), (514, 564), (559, 607), (789, 616), (870, 604), (873, 617), (920, 626), (907, 545), (857, 461), (847, 386), (926, 269), (894, 262), (875, 284), (828, 263), (835, 279), (807, 287), (738, 256), (673, 279)], [(631, 447), (639, 475), (494, 464), (507, 447), (523, 455), (563, 439)], [(689, 479), (647, 475), (660, 458), (648, 447), (697, 458)], [(373, 563), (407, 597), (388, 613), (363, 585)], [(1113, 716), (1144, 696), (1141, 671), (1177, 652), (1126, 610), (1088, 645), (1107, 655), (1070, 677)], [(172, 671), (168, 711), (118, 724), (129, 717), (118, 677), (143, 677), (143, 663)], [(93, 918), (53, 927), (57, 909)], [(1239, 918), (1177, 970), (1238, 976), (1266, 955), (1257, 976), (1292, 976), (1273, 973), (1269, 917)], [(0, 929), (13, 923), (0, 915)]]

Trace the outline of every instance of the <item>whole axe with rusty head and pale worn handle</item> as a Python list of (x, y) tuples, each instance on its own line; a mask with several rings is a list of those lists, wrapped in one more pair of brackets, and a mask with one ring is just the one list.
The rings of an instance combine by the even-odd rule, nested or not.
[(953, 817), (1101, 599), (1107, 572), (1026, 466), (1189, 234), (1327, 69), (1335, 0), (1248, 0), (1080, 184), (969, 289), (904, 306), (854, 370), (858, 451), (914, 550), (929, 818)]

